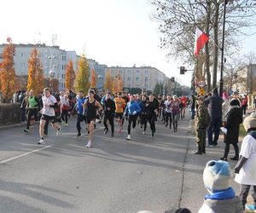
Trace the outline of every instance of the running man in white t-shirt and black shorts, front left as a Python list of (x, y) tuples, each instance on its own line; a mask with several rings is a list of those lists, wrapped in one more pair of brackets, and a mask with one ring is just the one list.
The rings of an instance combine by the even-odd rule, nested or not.
[(56, 130), (56, 135), (61, 134), (61, 127), (56, 124), (55, 118), (55, 108), (58, 107), (58, 103), (55, 96), (50, 95), (49, 88), (44, 88), (44, 96), (42, 97), (42, 101), (43, 109), (39, 126), (40, 141), (38, 141), (38, 144), (44, 144), (44, 125), (46, 121), (49, 121), (52, 124), (53, 128)]

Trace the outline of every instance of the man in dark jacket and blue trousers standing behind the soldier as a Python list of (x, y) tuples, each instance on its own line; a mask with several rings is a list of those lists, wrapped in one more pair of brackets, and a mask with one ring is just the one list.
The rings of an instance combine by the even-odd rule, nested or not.
[[(222, 98), (218, 96), (218, 88), (213, 89), (212, 96), (208, 97), (206, 100), (211, 117), (211, 123), (207, 130), (209, 147), (218, 146), (219, 128), (222, 120), (222, 102)], [(212, 133), (214, 133), (213, 140)]]

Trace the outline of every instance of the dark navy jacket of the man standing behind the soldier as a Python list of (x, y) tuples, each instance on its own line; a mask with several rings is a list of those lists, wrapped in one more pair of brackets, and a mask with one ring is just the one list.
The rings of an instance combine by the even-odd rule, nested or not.
[(223, 99), (218, 94), (208, 97), (205, 104), (208, 105), (211, 118), (222, 118), (222, 102)]

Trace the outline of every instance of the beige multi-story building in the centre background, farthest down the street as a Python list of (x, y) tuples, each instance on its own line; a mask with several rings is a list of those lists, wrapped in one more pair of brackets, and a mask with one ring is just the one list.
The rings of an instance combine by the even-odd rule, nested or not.
[(124, 88), (140, 88), (153, 90), (156, 83), (163, 83), (166, 75), (151, 66), (106, 67), (105, 72), (110, 72), (112, 77), (120, 75), (124, 82)]

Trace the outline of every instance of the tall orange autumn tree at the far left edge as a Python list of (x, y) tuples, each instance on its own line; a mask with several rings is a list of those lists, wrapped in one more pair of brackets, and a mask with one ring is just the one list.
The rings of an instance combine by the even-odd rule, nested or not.
[(15, 46), (10, 37), (7, 38), (8, 44), (3, 49), (3, 61), (0, 70), (0, 85), (3, 93), (3, 101), (9, 102), (15, 93)]

